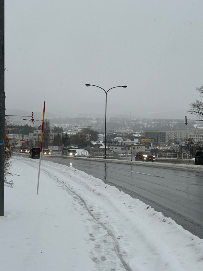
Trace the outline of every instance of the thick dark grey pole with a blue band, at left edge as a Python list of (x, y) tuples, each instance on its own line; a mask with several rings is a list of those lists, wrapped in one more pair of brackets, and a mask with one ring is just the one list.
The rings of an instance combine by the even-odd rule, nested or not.
[(5, 157), (5, 92), (4, 92), (4, 0), (0, 0), (0, 215), (4, 215)]

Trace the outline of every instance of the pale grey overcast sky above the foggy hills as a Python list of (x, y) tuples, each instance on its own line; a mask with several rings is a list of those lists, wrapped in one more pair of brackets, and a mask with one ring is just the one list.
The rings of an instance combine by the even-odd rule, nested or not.
[[(6, 0), (11, 109), (189, 118), (203, 85), (203, 1)], [(190, 116), (191, 117), (191, 116)], [(193, 116), (195, 117), (195, 116)]]

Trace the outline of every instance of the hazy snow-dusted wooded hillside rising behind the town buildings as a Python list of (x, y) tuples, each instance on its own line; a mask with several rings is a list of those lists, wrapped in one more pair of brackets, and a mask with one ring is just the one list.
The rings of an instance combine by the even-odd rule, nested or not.
[[(29, 112), (25, 110), (10, 110), (7, 112), (8, 115), (21, 115), (29, 116)], [(31, 115), (31, 114), (30, 114)], [(23, 118), (31, 120), (31, 117), (10, 117), (11, 123), (13, 125), (28, 124), (32, 125), (29, 121), (24, 121)], [(62, 127), (64, 131), (74, 130), (74, 127), (91, 127), (100, 133), (104, 133), (105, 128), (105, 118), (104, 116), (96, 117), (57, 117), (54, 114), (46, 113), (45, 118), (50, 120), (51, 129), (54, 126)], [(42, 119), (42, 114), (39, 112), (34, 112), (34, 120)], [(34, 126), (37, 126), (34, 124)], [(182, 119), (166, 119), (166, 118), (135, 118), (129, 115), (118, 115), (114, 117), (107, 117), (107, 132), (109, 130), (158, 130), (158, 131), (172, 131), (172, 130), (192, 130), (197, 127), (197, 122), (190, 121), (188, 125), (185, 125), (185, 120)], [(201, 122), (199, 122), (198, 127), (202, 127)], [(76, 128), (77, 130), (77, 128)]]

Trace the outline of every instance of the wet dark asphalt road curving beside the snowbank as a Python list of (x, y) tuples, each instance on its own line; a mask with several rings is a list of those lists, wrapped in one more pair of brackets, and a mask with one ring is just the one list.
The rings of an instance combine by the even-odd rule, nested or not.
[(203, 239), (203, 173), (45, 155), (42, 160), (72, 166), (100, 178)]

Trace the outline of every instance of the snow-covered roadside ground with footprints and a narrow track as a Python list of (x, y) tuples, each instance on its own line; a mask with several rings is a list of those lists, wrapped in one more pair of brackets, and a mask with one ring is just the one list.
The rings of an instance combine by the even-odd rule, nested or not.
[[(0, 217), (4, 271), (203, 270), (203, 240), (73, 167), (14, 157)], [(154, 165), (153, 165), (154, 166)], [(176, 166), (176, 165), (175, 165)], [(186, 166), (186, 165), (185, 165)], [(194, 167), (194, 165), (193, 165)]]

